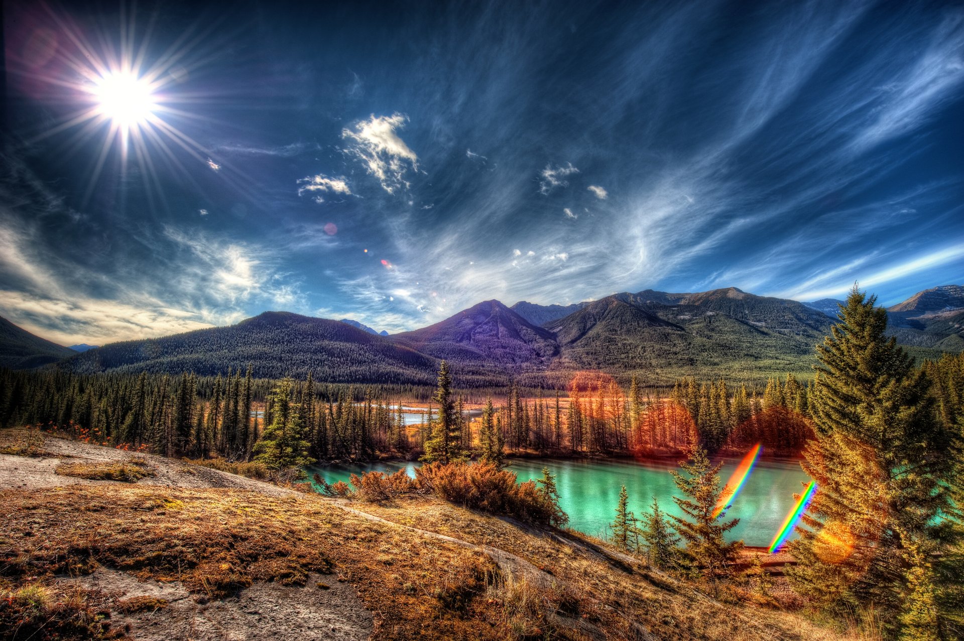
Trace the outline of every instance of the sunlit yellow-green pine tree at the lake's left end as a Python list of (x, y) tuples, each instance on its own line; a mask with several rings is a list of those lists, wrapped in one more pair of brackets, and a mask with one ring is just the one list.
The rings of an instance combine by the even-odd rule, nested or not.
[(299, 408), (292, 403), (294, 382), (284, 379), (271, 393), (272, 420), (264, 426), (261, 440), (254, 445), (260, 461), (272, 469), (307, 466), (314, 463), (308, 457), (308, 440), (299, 420)]

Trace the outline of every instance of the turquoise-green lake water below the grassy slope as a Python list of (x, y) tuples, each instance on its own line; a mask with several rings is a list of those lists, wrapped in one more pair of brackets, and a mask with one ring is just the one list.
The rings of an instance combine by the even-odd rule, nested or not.
[[(725, 462), (720, 477), (723, 483), (730, 478), (738, 461)], [(329, 483), (348, 481), (352, 473), (362, 474), (370, 470), (394, 472), (402, 467), (415, 476), (417, 463), (371, 463), (341, 466), (312, 466), (308, 474), (317, 472)], [(569, 515), (569, 526), (593, 536), (608, 534), (612, 522), (620, 486), (629, 492), (629, 508), (637, 515), (647, 510), (653, 497), (659, 499), (659, 507), (669, 514), (680, 514), (673, 494), (671, 462), (628, 460), (562, 460), (562, 459), (514, 459), (507, 467), (516, 472), (520, 481), (542, 476), (542, 468), (556, 475), (559, 503)], [(780, 524), (793, 507), (793, 493), (799, 493), (807, 475), (795, 462), (761, 461), (743, 484), (728, 512), (739, 523), (730, 531), (730, 539), (742, 539), (747, 546), (768, 546)]]

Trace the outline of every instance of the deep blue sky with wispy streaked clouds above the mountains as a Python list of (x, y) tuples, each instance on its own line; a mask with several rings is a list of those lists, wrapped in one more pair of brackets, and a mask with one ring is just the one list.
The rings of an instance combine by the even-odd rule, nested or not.
[(6, 15), (0, 315), (58, 342), (964, 280), (958, 3), (106, 5)]

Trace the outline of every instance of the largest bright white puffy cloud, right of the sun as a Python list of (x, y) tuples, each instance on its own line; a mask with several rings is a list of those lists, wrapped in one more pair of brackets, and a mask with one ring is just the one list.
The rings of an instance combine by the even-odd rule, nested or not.
[(418, 156), (396, 133), (408, 120), (399, 113), (391, 116), (373, 114), (368, 120), (356, 124), (354, 130), (346, 128), (341, 131), (341, 137), (349, 142), (346, 151), (361, 160), (368, 174), (378, 178), (389, 194), (401, 186), (408, 189), (410, 183), (404, 179), (407, 165), (418, 170)]

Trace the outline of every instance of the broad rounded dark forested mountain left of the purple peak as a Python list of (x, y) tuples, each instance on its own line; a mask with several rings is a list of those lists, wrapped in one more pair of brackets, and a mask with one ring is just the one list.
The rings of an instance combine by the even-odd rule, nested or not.
[(339, 321), (266, 311), (237, 325), (111, 343), (64, 362), (76, 372), (195, 372), (251, 363), (255, 377), (314, 377), (331, 383), (431, 384), (438, 362)]

